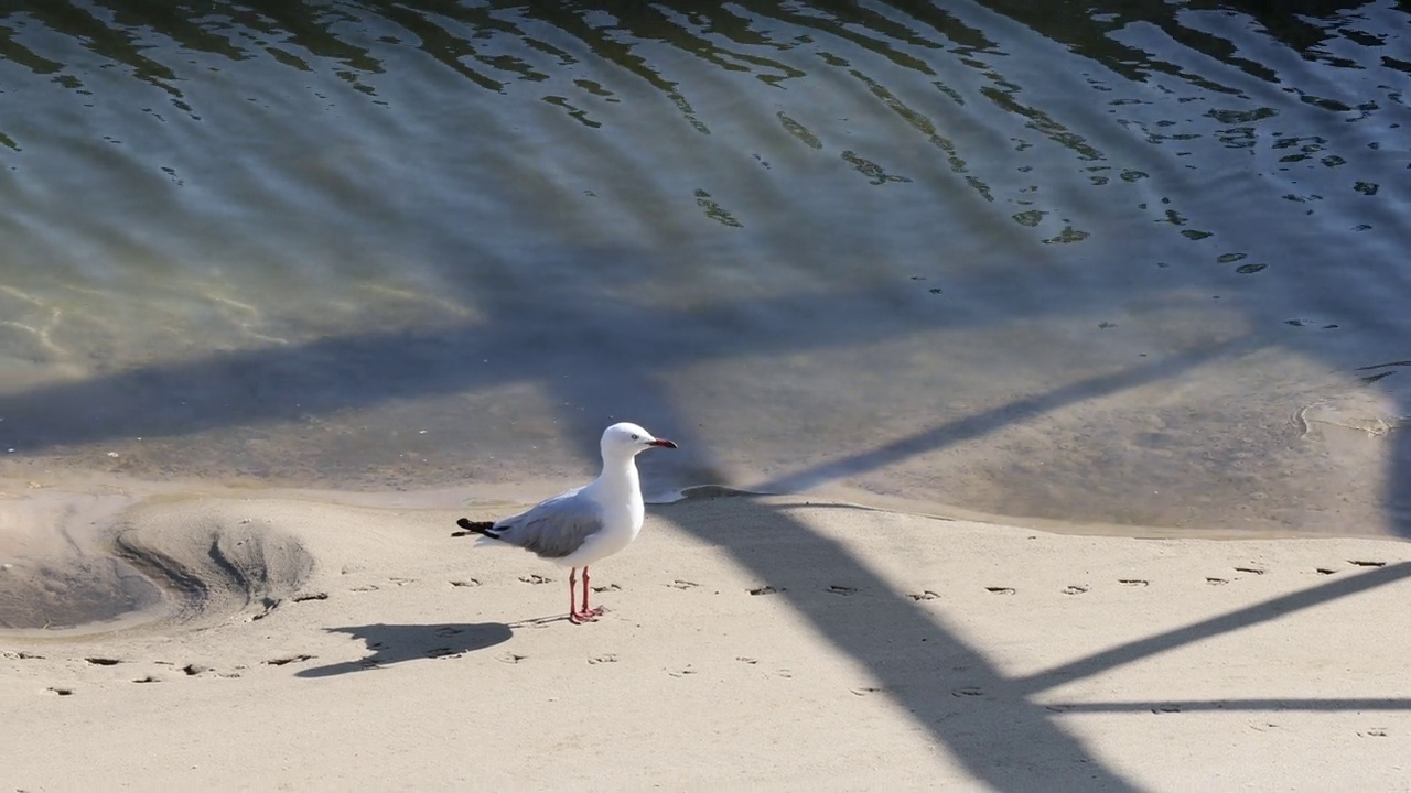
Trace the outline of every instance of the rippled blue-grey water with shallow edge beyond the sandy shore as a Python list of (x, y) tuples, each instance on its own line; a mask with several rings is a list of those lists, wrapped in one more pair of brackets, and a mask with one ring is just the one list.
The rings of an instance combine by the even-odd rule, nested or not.
[(1411, 535), (1407, 3), (0, 3), (0, 476)]

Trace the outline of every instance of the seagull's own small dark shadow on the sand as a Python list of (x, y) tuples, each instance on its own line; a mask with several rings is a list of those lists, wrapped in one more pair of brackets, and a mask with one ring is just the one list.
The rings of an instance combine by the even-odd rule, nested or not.
[(347, 634), (363, 639), (371, 655), (358, 660), (330, 663), (301, 670), (298, 677), (332, 677), (349, 672), (381, 669), (404, 660), (444, 658), (495, 646), (514, 635), (502, 622), (443, 624), (443, 625), (349, 625), (327, 628), (330, 634)]

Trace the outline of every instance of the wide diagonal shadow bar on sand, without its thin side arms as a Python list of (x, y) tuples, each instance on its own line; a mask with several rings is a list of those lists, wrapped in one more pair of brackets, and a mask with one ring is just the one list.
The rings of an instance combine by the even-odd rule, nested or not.
[[(1062, 730), (1053, 713), (1012, 696), (1013, 683), (989, 659), (892, 591), (847, 547), (786, 509), (739, 501), (749, 516), (738, 526), (721, 526), (691, 511), (663, 508), (658, 515), (727, 549), (751, 573), (775, 584), (777, 594), (769, 597), (785, 598), (840, 653), (865, 667), (897, 707), (985, 786), (1023, 790), (1044, 780), (1050, 790), (1136, 789)], [(796, 563), (782, 569), (779, 547), (787, 547)], [(840, 610), (835, 597), (803, 583), (818, 571), (837, 573), (871, 593), (866, 607)], [(923, 682), (919, 666), (931, 670)], [(1006, 725), (999, 734), (991, 727), (996, 722)]]

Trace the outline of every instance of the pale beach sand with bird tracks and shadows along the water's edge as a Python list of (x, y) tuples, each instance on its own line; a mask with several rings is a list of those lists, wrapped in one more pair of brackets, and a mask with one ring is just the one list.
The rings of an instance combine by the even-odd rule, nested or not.
[(444, 501), (135, 500), (102, 542), (182, 597), (0, 632), (0, 789), (1411, 785), (1407, 543), (696, 498), (577, 626)]

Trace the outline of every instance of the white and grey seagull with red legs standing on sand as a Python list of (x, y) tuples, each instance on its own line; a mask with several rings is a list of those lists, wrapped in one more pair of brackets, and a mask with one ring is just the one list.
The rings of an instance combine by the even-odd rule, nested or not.
[[(602, 430), (602, 473), (591, 483), (540, 501), (533, 508), (495, 522), (461, 518), (464, 536), (483, 535), (476, 545), (512, 545), (569, 567), (569, 621), (593, 622), (602, 608), (588, 608), (588, 564), (612, 556), (636, 539), (646, 508), (636, 477), (636, 456), (652, 447), (676, 449), (641, 426), (622, 422)], [(583, 567), (583, 608), (574, 600)]]

